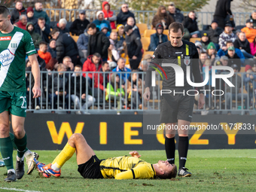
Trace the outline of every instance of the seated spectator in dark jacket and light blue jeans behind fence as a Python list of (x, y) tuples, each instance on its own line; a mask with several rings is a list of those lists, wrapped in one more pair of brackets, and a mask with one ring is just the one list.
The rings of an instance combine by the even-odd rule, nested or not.
[[(86, 114), (84, 110), (90, 108), (95, 102), (95, 98), (90, 95), (86, 95), (86, 79), (81, 75), (82, 68), (81, 66), (75, 66), (74, 69), (75, 75), (71, 78), (71, 99), (75, 103), (75, 109), (80, 109), (81, 111), (75, 112), (76, 114)], [(81, 105), (81, 101), (84, 101), (84, 105)]]

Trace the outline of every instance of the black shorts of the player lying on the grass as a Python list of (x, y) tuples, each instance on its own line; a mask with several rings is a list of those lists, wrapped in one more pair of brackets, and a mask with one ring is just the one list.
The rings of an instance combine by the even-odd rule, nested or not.
[(93, 155), (86, 163), (78, 165), (78, 172), (80, 172), (84, 178), (103, 178), (99, 168), (100, 162), (102, 162), (102, 160), (99, 160), (96, 155)]

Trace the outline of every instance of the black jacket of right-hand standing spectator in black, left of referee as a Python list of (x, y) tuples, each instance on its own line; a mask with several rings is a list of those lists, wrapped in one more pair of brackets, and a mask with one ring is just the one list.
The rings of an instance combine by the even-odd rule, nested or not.
[(136, 32), (125, 36), (127, 44), (128, 56), (131, 59), (133, 56), (140, 56), (142, 54), (142, 41)]

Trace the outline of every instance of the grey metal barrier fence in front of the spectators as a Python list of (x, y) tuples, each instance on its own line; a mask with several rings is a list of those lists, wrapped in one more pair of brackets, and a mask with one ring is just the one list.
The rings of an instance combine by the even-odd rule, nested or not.
[[(151, 98), (146, 102), (142, 99), (145, 72), (41, 72), (40, 99), (32, 98), (32, 75), (31, 72), (26, 73), (27, 111), (77, 114), (160, 111), (160, 98), (163, 95), (160, 75), (157, 75), (156, 87), (151, 88)], [(92, 75), (92, 79), (84, 78), (83, 74), (86, 77)], [(118, 75), (120, 81), (115, 76), (111, 77), (113, 74)], [(254, 75), (253, 78), (249, 76), (245, 79), (244, 75), (246, 73), (239, 72), (230, 78), (231, 82), (235, 82), (235, 87), (228, 87), (224, 81), (217, 81), (216, 87), (206, 85), (206, 105), (203, 110), (197, 109), (195, 96), (194, 112), (208, 114), (232, 111), (254, 114), (256, 73), (250, 74)], [(134, 83), (130, 83), (131, 81)], [(91, 87), (90, 82), (94, 82)], [(241, 83), (241, 86), (237, 82)], [(239, 87), (242, 87), (241, 92)]]

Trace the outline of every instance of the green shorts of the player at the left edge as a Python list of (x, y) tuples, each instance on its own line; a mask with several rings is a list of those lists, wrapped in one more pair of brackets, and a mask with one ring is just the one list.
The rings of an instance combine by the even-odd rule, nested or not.
[(4, 111), (26, 117), (26, 92), (0, 91), (0, 114)]

